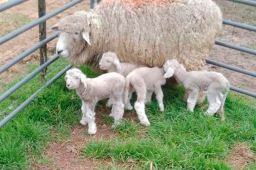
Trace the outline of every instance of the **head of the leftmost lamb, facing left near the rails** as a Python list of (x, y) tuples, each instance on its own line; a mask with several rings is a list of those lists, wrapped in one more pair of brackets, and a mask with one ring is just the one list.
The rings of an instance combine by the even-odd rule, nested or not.
[(66, 86), (68, 89), (78, 89), (83, 83), (86, 88), (86, 76), (78, 68), (73, 68), (67, 71), (65, 76)]

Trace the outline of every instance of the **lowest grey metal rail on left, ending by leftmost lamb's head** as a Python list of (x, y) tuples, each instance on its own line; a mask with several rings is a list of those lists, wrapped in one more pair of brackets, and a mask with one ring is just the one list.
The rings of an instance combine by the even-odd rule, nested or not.
[(12, 118), (17, 116), (21, 110), (23, 110), (26, 106), (28, 106), (34, 98), (41, 92), (43, 89), (49, 87), (53, 82), (55, 82), (60, 76), (65, 74), (68, 69), (70, 69), (72, 65), (68, 65), (64, 69), (62, 69), (57, 75), (55, 75), (52, 79), (50, 79), (44, 86), (42, 86), (39, 90), (37, 90), (34, 94), (32, 94), (25, 102), (23, 102), (19, 107), (17, 107), (14, 111), (12, 111), (8, 116), (6, 116), (1, 122), (0, 122), (0, 129), (8, 123)]

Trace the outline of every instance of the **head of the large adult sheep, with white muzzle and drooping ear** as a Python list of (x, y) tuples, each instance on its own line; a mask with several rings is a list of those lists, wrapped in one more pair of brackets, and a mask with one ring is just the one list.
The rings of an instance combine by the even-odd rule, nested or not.
[(78, 11), (62, 18), (51, 29), (60, 31), (56, 52), (62, 57), (76, 56), (90, 46), (88, 12)]

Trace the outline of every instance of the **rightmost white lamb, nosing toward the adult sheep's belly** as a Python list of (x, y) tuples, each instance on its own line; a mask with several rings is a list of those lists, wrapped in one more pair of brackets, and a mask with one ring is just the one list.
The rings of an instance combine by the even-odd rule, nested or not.
[[(163, 69), (166, 72), (164, 78), (172, 76), (180, 82), (188, 93), (187, 108), (191, 112), (194, 111), (197, 102), (197, 96), (200, 91), (206, 92), (209, 103), (206, 115), (212, 116), (216, 112), (220, 115), (221, 121), (224, 117), (224, 104), (229, 91), (229, 82), (221, 74), (207, 71), (191, 71), (187, 72), (182, 64), (177, 60), (168, 60)], [(224, 90), (224, 95), (222, 91)]]

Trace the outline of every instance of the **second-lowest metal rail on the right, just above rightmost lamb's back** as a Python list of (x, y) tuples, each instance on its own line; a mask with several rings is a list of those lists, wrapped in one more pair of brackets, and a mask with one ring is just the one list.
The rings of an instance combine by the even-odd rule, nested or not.
[(219, 66), (219, 67), (223, 67), (223, 68), (227, 68), (227, 69), (233, 70), (235, 72), (239, 72), (239, 73), (246, 74), (246, 75), (249, 75), (249, 76), (252, 76), (252, 77), (256, 77), (256, 73), (255, 72), (251, 72), (251, 71), (248, 71), (246, 69), (234, 67), (232, 65), (228, 65), (228, 64), (216, 62), (216, 61), (213, 61), (213, 60), (208, 60), (208, 59), (206, 59), (206, 62), (208, 64), (216, 65), (216, 66)]

